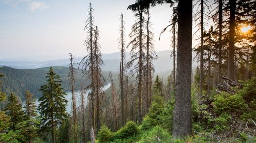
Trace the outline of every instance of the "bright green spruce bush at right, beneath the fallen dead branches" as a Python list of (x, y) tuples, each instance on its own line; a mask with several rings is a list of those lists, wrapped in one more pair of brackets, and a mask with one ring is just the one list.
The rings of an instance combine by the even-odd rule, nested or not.
[(218, 114), (223, 112), (236, 112), (246, 108), (245, 101), (241, 95), (230, 95), (225, 92), (215, 95), (213, 105), (215, 106), (215, 112)]

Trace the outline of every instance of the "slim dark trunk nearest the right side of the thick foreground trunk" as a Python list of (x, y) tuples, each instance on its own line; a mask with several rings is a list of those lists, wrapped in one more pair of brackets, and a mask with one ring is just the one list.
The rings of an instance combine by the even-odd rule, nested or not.
[(200, 28), (201, 28), (201, 44), (200, 44), (200, 82), (199, 82), (199, 96), (203, 95), (203, 0), (201, 0), (201, 22), (200, 22)]

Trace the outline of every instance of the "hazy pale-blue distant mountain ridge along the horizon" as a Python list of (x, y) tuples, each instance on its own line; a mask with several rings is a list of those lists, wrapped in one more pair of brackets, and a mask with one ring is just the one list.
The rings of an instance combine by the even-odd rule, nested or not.
[[(126, 52), (127, 61), (130, 59), (129, 52)], [(157, 52), (158, 58), (153, 61), (156, 72), (170, 71), (173, 68), (173, 59), (170, 57), (171, 50), (164, 50)], [(194, 54), (193, 54), (194, 57)], [(114, 52), (109, 54), (102, 54), (104, 65), (102, 66), (103, 71), (118, 71), (120, 62), (120, 52)], [(82, 57), (75, 59), (76, 63), (79, 63)], [(8, 66), (16, 69), (38, 69), (50, 66), (63, 66), (68, 67), (69, 60), (59, 59), (50, 61), (11, 61), (11, 60), (0, 60), (0, 66)], [(196, 63), (193, 62), (193, 66)], [(78, 68), (78, 64), (76, 65)]]

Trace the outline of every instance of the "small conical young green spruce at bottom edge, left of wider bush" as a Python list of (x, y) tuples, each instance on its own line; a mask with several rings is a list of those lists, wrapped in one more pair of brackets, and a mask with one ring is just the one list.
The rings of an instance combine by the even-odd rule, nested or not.
[(98, 131), (98, 140), (99, 143), (109, 142), (113, 139), (114, 134), (110, 131), (110, 129), (103, 124)]

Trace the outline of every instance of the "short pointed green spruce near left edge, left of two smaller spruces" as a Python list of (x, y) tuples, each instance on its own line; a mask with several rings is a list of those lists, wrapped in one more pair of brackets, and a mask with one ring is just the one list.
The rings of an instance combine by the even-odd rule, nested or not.
[(22, 110), (22, 104), (20, 103), (18, 97), (11, 93), (8, 97), (8, 104), (4, 108), (5, 114), (9, 116), (11, 125), (9, 127), (9, 130), (16, 130), (15, 126), (19, 122), (24, 121), (25, 113)]

